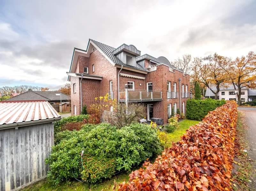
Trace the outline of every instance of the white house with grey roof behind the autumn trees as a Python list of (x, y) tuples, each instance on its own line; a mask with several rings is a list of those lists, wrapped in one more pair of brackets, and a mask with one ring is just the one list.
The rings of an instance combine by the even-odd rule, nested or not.
[[(211, 86), (211, 89), (213, 91), (216, 91), (216, 87)], [(236, 95), (236, 92), (238, 91), (237, 89), (234, 88), (233, 84), (221, 85), (220, 86), (220, 91), (218, 93), (218, 99), (219, 100), (224, 99), (224, 100), (235, 100), (235, 101), (237, 101), (237, 95)], [(241, 89), (241, 102), (248, 102), (249, 101), (249, 96), (248, 96), (249, 93), (256, 95), (256, 90), (252, 91), (251, 89), (246, 88), (246, 87)], [(210, 97), (210, 98), (214, 99), (214, 94), (208, 87), (206, 89), (205, 97), (206, 98)]]

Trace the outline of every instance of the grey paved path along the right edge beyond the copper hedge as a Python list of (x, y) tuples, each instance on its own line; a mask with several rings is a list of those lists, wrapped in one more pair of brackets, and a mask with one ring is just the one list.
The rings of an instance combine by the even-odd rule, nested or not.
[[(254, 163), (253, 165), (253, 173), (254, 176), (251, 178), (252, 183), (251, 186), (256, 190), (256, 110), (240, 110), (244, 112), (246, 118), (246, 124), (248, 129), (246, 129), (246, 138), (249, 143), (248, 148), (248, 157), (250, 157)], [(244, 109), (244, 108), (243, 108)], [(246, 108), (246, 109), (256, 109), (256, 108)]]

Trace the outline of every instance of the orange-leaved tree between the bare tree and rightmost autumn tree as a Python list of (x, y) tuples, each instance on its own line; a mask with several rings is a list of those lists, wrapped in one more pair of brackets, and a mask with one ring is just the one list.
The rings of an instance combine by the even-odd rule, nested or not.
[[(205, 84), (213, 92), (215, 99), (218, 99), (220, 85), (228, 81), (226, 71), (229, 63), (230, 59), (228, 57), (220, 56), (217, 53), (203, 59), (195, 58), (193, 61), (192, 70), (193, 73), (197, 74), (197, 80)], [(213, 87), (216, 87), (216, 90)]]

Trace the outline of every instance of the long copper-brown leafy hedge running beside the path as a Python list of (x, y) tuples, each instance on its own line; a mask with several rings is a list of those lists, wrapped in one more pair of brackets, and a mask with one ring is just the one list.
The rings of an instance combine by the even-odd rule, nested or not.
[(154, 164), (147, 161), (132, 172), (119, 190), (232, 190), (236, 122), (236, 102), (228, 101), (191, 126)]

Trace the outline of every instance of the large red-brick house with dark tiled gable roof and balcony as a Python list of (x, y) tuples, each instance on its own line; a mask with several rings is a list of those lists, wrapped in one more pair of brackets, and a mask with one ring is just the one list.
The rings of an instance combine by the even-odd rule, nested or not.
[(133, 45), (113, 48), (89, 39), (86, 50), (74, 48), (67, 75), (71, 82), (72, 115), (80, 114), (81, 106), (89, 106), (95, 103), (95, 97), (107, 93), (125, 102), (128, 84), (128, 101), (145, 103), (147, 120), (157, 117), (167, 123), (172, 107), (185, 113), (190, 95), (190, 75), (163, 56), (141, 55)]

